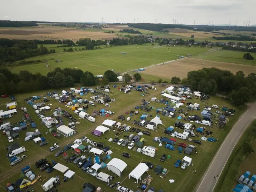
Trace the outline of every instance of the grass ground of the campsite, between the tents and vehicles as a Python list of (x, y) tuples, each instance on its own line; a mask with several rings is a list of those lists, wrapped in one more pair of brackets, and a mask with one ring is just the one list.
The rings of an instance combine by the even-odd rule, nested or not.
[[(105, 106), (102, 106), (101, 104), (96, 104), (96, 106), (90, 107), (89, 110), (87, 110), (87, 113), (91, 114), (92, 110), (100, 110), (102, 108), (108, 109), (108, 110), (112, 110), (114, 111), (114, 115), (110, 116), (109, 119), (112, 120), (116, 120), (118, 121), (118, 116), (119, 115), (124, 115), (125, 117), (128, 117), (128, 115), (125, 115), (125, 112), (129, 112), (130, 110), (132, 110), (132, 108), (134, 108), (134, 106), (139, 105), (141, 103), (140, 99), (141, 98), (145, 98), (146, 100), (151, 100), (151, 98), (153, 96), (156, 96), (158, 99), (162, 98), (160, 91), (162, 90), (162, 87), (158, 87), (158, 90), (149, 90), (149, 94), (146, 94), (145, 96), (141, 96), (140, 93), (141, 92), (137, 92), (137, 91), (132, 91), (131, 94), (124, 94), (120, 91), (117, 91), (117, 89), (111, 88), (111, 91), (113, 92), (113, 94), (110, 94), (110, 98), (115, 98), (116, 101), (110, 103), (111, 107), (110, 108), (106, 108)], [(182, 151), (181, 154), (178, 153), (177, 150), (175, 151), (171, 151), (169, 149), (164, 148), (164, 145), (162, 147), (158, 147), (158, 143), (153, 141), (153, 138), (158, 136), (158, 137), (168, 137), (170, 138), (171, 136), (165, 135), (163, 133), (163, 130), (166, 127), (169, 126), (173, 126), (174, 123), (176, 122), (176, 118), (170, 118), (167, 116), (162, 116), (160, 114), (160, 119), (163, 120), (163, 125), (160, 125), (159, 129), (157, 129), (156, 132), (150, 131), (152, 134), (150, 136), (147, 135), (143, 135), (143, 138), (145, 140), (147, 140), (144, 143), (144, 146), (148, 146), (151, 145), (153, 147), (158, 148), (157, 150), (157, 155), (155, 156), (155, 158), (140, 154), (136, 151), (133, 150), (128, 150), (127, 146), (126, 147), (122, 147), (122, 146), (118, 146), (116, 144), (113, 144), (112, 142), (108, 142), (109, 138), (116, 138), (116, 136), (114, 135), (115, 133), (110, 131), (110, 132), (106, 132), (105, 135), (102, 135), (101, 137), (96, 137), (90, 134), (90, 132), (95, 129), (95, 127), (97, 125), (100, 125), (104, 119), (106, 119), (103, 116), (97, 116), (96, 117), (96, 122), (95, 123), (90, 123), (87, 120), (81, 120), (79, 119), (79, 121), (81, 122), (78, 126), (77, 126), (77, 134), (74, 136), (71, 136), (70, 138), (64, 138), (63, 136), (61, 137), (61, 139), (57, 139), (55, 137), (53, 137), (52, 135), (48, 134), (46, 135), (45, 132), (47, 132), (47, 128), (45, 128), (43, 125), (40, 124), (40, 120), (39, 118), (36, 116), (34, 109), (29, 106), (26, 102), (23, 101), (23, 99), (29, 97), (29, 96), (33, 96), (33, 95), (45, 95), (47, 92), (50, 92), (52, 90), (46, 90), (44, 92), (32, 92), (32, 93), (26, 93), (26, 94), (19, 94), (16, 96), (16, 98), (18, 99), (18, 107), (26, 107), (28, 109), (28, 113), (30, 114), (30, 116), (32, 117), (33, 121), (35, 121), (35, 123), (38, 125), (38, 129), (41, 131), (41, 133), (43, 134), (43, 136), (46, 138), (46, 140), (49, 141), (49, 144), (47, 144), (44, 147), (39, 147), (39, 144), (34, 144), (32, 140), (29, 141), (24, 141), (24, 135), (27, 132), (26, 130), (23, 132), (20, 132), (20, 139), (19, 140), (15, 140), (15, 142), (18, 142), (20, 144), (20, 146), (24, 146), (26, 147), (26, 149), (28, 150), (27, 152), (25, 152), (25, 154), (28, 156), (27, 160), (31, 167), (32, 170), (35, 172), (36, 176), (38, 175), (42, 175), (42, 180), (44, 178), (48, 178), (47, 180), (49, 180), (51, 177), (55, 176), (56, 174), (58, 174), (61, 178), (63, 178), (63, 174), (62, 173), (58, 173), (56, 170), (53, 171), (50, 174), (47, 174), (45, 171), (44, 172), (40, 172), (38, 168), (34, 167), (34, 163), (35, 163), (35, 159), (33, 158), (34, 156), (38, 156), (38, 159), (42, 158), (42, 156), (46, 157), (47, 159), (49, 159), (49, 161), (55, 160), (56, 162), (59, 162), (61, 164), (64, 164), (66, 166), (68, 166), (70, 168), (70, 170), (75, 171), (76, 175), (75, 175), (75, 179), (74, 180), (70, 180), (68, 182), (63, 183), (62, 179), (61, 179), (61, 191), (70, 191), (70, 190), (77, 190), (77, 191), (81, 191), (81, 186), (82, 183), (87, 181), (87, 182), (91, 182), (93, 184), (96, 184), (97, 186), (100, 186), (104, 191), (113, 191), (113, 189), (108, 188), (107, 185), (101, 181), (98, 181), (96, 178), (93, 178), (90, 175), (87, 175), (85, 172), (82, 172), (75, 164), (73, 163), (66, 163), (63, 159), (62, 156), (59, 157), (55, 157), (54, 154), (55, 152), (48, 152), (48, 148), (50, 146), (53, 145), (54, 142), (57, 142), (61, 147), (64, 147), (67, 143), (72, 143), (75, 139), (78, 139), (82, 136), (87, 136), (89, 139), (91, 140), (95, 140), (95, 141), (100, 141), (103, 142), (105, 145), (109, 146), (110, 149), (113, 151), (113, 154), (111, 154), (111, 158), (120, 158), (122, 159), (124, 162), (126, 162), (128, 164), (127, 170), (123, 171), (122, 174), (122, 178), (118, 178), (116, 175), (114, 175), (112, 172), (108, 172), (106, 170), (106, 168), (104, 168), (102, 171), (105, 173), (108, 173), (109, 175), (114, 176), (114, 180), (112, 181), (112, 183), (115, 183), (116, 181), (123, 181), (122, 185), (123, 186), (128, 186), (129, 188), (132, 188), (133, 190), (136, 190), (138, 184), (134, 183), (133, 179), (128, 179), (128, 174), (140, 163), (140, 162), (144, 162), (144, 161), (149, 161), (154, 163), (154, 168), (160, 164), (163, 168), (166, 168), (168, 170), (168, 173), (166, 175), (166, 178), (161, 178), (159, 175), (156, 175), (156, 173), (153, 170), (149, 170), (148, 173), (144, 173), (143, 176), (141, 177), (142, 179), (145, 178), (145, 176), (147, 174), (150, 174), (153, 177), (153, 181), (150, 184), (150, 187), (155, 187), (156, 190), (159, 189), (163, 189), (164, 191), (172, 189), (172, 191), (188, 191), (191, 188), (194, 188), (196, 183), (200, 180), (201, 176), (203, 175), (204, 171), (206, 170), (208, 164), (210, 163), (210, 161), (212, 160), (212, 157), (214, 156), (214, 154), (216, 153), (217, 149), (219, 148), (221, 142), (224, 140), (224, 138), (226, 137), (227, 133), (229, 132), (229, 130), (231, 129), (232, 125), (236, 122), (236, 120), (238, 119), (238, 117), (240, 116), (240, 114), (242, 113), (242, 111), (240, 111), (239, 109), (235, 108), (234, 106), (230, 105), (228, 102), (224, 101), (222, 98), (220, 97), (211, 97), (210, 100), (205, 100), (204, 102), (198, 100), (198, 99), (192, 99), (189, 100), (188, 102), (196, 102), (199, 103), (201, 108), (204, 106), (204, 104), (208, 104), (208, 105), (212, 105), (212, 104), (217, 104), (219, 106), (227, 106), (228, 108), (234, 108), (236, 109), (236, 114), (234, 117), (230, 117), (229, 118), (229, 123), (226, 125), (226, 127), (224, 129), (219, 129), (216, 128), (215, 125), (212, 128), (207, 127), (206, 130), (211, 130), (213, 132), (213, 134), (211, 135), (211, 137), (217, 138), (218, 141), (217, 142), (209, 142), (209, 141), (203, 141), (203, 144), (200, 146), (198, 144), (193, 144), (190, 143), (189, 141), (184, 141), (181, 139), (177, 139), (175, 148), (177, 149), (177, 143), (179, 142), (185, 142), (187, 144), (193, 144), (195, 145), (198, 150), (197, 150), (197, 154), (193, 153), (192, 155), (190, 155), (190, 157), (192, 158), (192, 162), (193, 162), (193, 166), (192, 164), (187, 167), (185, 170), (182, 170), (181, 168), (175, 168), (173, 166), (173, 164), (176, 162), (177, 159), (182, 160), (182, 158), (185, 156), (184, 154), (184, 149)], [(60, 90), (58, 90), (60, 92)], [(87, 95), (82, 96), (82, 98), (84, 99), (89, 99), (92, 96), (91, 93), (88, 93)], [(63, 110), (68, 110), (71, 112), (70, 109), (66, 108), (64, 105), (62, 105), (61, 103), (59, 103), (57, 100), (50, 98), (50, 102), (52, 105), (50, 106), (52, 109), (56, 108), (56, 107), (60, 107)], [(5, 110), (5, 103), (9, 102), (10, 100), (8, 98), (6, 99), (2, 99), (1, 100), (1, 106), (0, 109)], [(40, 102), (40, 101), (38, 101)], [(162, 103), (155, 103), (155, 102), (151, 102), (149, 105), (151, 105), (154, 108), (163, 108), (164, 104)], [(185, 106), (184, 106), (185, 108)], [(193, 112), (189, 112), (189, 115), (192, 114), (197, 114), (200, 115), (202, 110), (199, 111), (193, 111)], [(215, 112), (215, 111), (214, 111)], [(53, 113), (53, 111), (49, 111), (45, 114), (45, 116), (50, 116)], [(144, 113), (144, 111), (139, 109), (139, 114)], [(73, 112), (71, 112), (71, 114), (78, 119), (78, 116), (76, 114), (74, 114)], [(153, 117), (156, 116), (156, 111), (152, 110), (150, 113)], [(8, 119), (10, 120), (12, 123), (17, 122), (18, 120), (20, 120), (20, 118), (23, 116), (22, 112), (20, 112), (18, 110), (18, 114), (13, 116), (12, 118)], [(152, 117), (152, 118), (153, 118)], [(136, 127), (136, 128), (140, 128), (141, 130), (146, 130), (146, 128), (142, 128), (136, 125), (132, 125), (132, 121), (133, 120), (139, 120), (140, 115), (137, 116), (132, 116), (132, 120), (127, 122), (121, 122), (122, 124), (127, 124), (128, 126), (132, 126), (132, 127)], [(65, 124), (68, 123), (68, 121), (66, 120), (65, 117), (63, 117)], [(151, 119), (151, 118), (148, 118)], [(186, 123), (184, 121), (181, 120), (181, 122)], [(32, 128), (29, 127), (28, 131), (32, 131)], [(178, 132), (183, 132), (182, 130), (179, 130), (178, 128), (175, 128), (175, 131)], [(123, 132), (121, 133), (119, 137), (119, 139), (123, 138), (124, 135), (130, 135), (131, 133), (128, 132)], [(134, 133), (136, 134), (136, 133)], [(78, 137), (79, 135), (79, 137)], [(1, 152), (4, 154), (4, 148), (5, 145), (8, 145), (8, 141), (6, 139), (6, 137), (4, 135), (0, 135), (1, 137), (1, 141), (2, 141), (2, 147), (0, 148)], [(202, 137), (202, 135), (198, 135), (198, 137), (196, 136), (196, 138), (194, 139), (199, 139), (199, 137)], [(88, 145), (86, 143), (84, 143), (83, 145)], [(137, 147), (137, 146), (136, 146)], [(131, 158), (127, 159), (123, 156), (121, 156), (122, 152), (128, 152), (131, 154)], [(38, 155), (39, 154), (39, 155)], [(69, 150), (68, 154), (71, 155), (72, 151)], [(159, 160), (159, 158), (163, 155), (170, 155), (171, 158), (170, 159), (166, 159), (165, 162), (161, 162)], [(86, 157), (87, 154), (85, 154)], [(25, 160), (23, 160), (25, 161)], [(109, 160), (107, 160), (108, 163)], [(5, 172), (9, 169), (15, 169), (15, 166), (19, 166), (19, 164), (15, 165), (14, 167), (11, 167), (9, 165), (9, 161), (8, 158), (3, 158), (3, 160), (0, 163), (1, 165), (1, 172)], [(195, 169), (197, 170), (196, 173), (193, 173), (192, 170)], [(12, 175), (11, 178), (8, 178), (7, 180), (3, 181), (1, 183), (1, 186), (4, 187), (6, 185), (7, 182), (15, 182), (16, 179), (20, 178), (20, 174), (17, 173), (15, 175)], [(168, 180), (173, 179), (175, 180), (175, 182), (173, 184), (170, 184)], [(37, 181), (36, 184), (34, 185), (34, 188), (37, 190), (41, 190), (41, 185), (44, 184), (47, 180), (45, 180), (44, 182), (40, 182)], [(183, 182), (184, 180), (186, 180), (187, 182)], [(60, 188), (60, 186), (58, 186), (58, 188)]]

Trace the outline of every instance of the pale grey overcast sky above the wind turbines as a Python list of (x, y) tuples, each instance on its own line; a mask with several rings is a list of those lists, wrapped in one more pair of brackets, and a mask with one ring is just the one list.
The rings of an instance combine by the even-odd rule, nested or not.
[[(256, 0), (0, 0), (0, 20), (256, 24)], [(194, 19), (194, 20), (193, 20)], [(176, 21), (177, 22), (177, 21)]]

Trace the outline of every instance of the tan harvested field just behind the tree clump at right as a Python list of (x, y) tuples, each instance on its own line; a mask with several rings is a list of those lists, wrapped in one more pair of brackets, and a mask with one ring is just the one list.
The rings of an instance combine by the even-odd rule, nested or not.
[(256, 71), (256, 66), (240, 65), (235, 63), (226, 63), (210, 60), (204, 60), (204, 65), (202, 65), (201, 59), (185, 58), (173, 61), (169, 64), (147, 67), (146, 71), (142, 71), (141, 73), (169, 79), (171, 79), (173, 76), (184, 78), (187, 77), (189, 71), (212, 67), (216, 67), (221, 70), (230, 70), (234, 74), (237, 71), (244, 71), (244, 74), (246, 76), (253, 71)]

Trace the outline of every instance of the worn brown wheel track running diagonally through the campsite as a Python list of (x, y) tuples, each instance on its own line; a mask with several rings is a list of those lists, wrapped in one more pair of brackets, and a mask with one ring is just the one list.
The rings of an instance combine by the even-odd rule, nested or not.
[[(153, 94), (147, 94), (147, 93), (146, 93), (146, 95), (148, 95), (148, 96), (144, 97), (144, 99), (145, 99), (145, 100), (148, 100), (148, 99), (150, 99), (150, 98), (156, 96), (157, 94), (159, 94), (158, 91), (154, 92)], [(141, 101), (138, 101), (138, 102), (134, 103), (134, 104), (131, 105), (131, 106), (128, 106), (128, 107), (126, 107), (126, 108), (123, 108), (119, 113), (116, 113), (116, 114), (110, 116), (111, 119), (114, 119), (114, 118), (118, 117), (119, 115), (122, 115), (124, 112), (133, 109), (134, 106), (136, 106), (136, 105), (138, 105), (138, 104), (140, 104), (140, 103), (141, 103)], [(80, 123), (83, 123), (83, 122), (80, 122)], [(101, 125), (101, 122), (99, 122), (99, 123), (93, 125), (92, 128), (89, 128), (86, 132), (79, 131), (75, 136), (76, 136), (77, 138), (80, 138), (80, 137), (84, 136), (85, 134), (87, 134), (87, 133), (89, 133), (89, 132), (92, 132), (92, 131), (95, 129), (95, 127), (96, 127), (96, 126), (99, 126), (99, 125)], [(66, 145), (67, 143), (70, 143), (70, 142), (72, 142), (72, 141), (74, 141), (74, 138), (69, 138), (69, 139), (67, 139), (67, 140), (63, 140), (61, 143), (58, 143), (58, 145), (59, 145), (60, 148), (61, 148), (61, 147), (63, 147), (64, 145)], [(39, 159), (41, 159), (41, 158), (44, 158), (44, 157), (46, 157), (46, 156), (48, 156), (48, 155), (51, 155), (51, 154), (52, 154), (51, 152), (45, 150), (45, 151), (42, 152), (41, 154), (38, 154), (38, 155), (36, 155), (36, 156), (34, 156), (34, 157), (32, 157), (32, 158), (29, 158), (29, 159), (27, 159), (27, 160), (23, 160), (20, 164), (13, 166), (13, 167), (11, 168), (11, 170), (9, 170), (9, 171), (7, 171), (7, 172), (1, 173), (1, 174), (0, 174), (0, 183), (2, 183), (3, 181), (5, 181), (5, 180), (11, 178), (11, 177), (12, 177), (13, 175), (15, 175), (16, 173), (20, 172), (20, 169), (21, 169), (22, 167), (25, 167), (25, 166), (27, 166), (27, 165), (30, 164), (30, 163), (35, 163), (37, 160), (39, 160)]]

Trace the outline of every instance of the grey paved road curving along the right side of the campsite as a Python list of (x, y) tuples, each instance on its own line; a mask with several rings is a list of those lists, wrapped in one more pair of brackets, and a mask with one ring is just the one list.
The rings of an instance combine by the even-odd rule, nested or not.
[(233, 151), (237, 141), (243, 134), (245, 128), (251, 123), (256, 116), (256, 102), (253, 103), (250, 108), (236, 122), (231, 131), (227, 135), (226, 139), (220, 146), (218, 152), (214, 156), (210, 166), (204, 173), (201, 183), (197, 187), (196, 192), (212, 192), (217, 181), (213, 179), (214, 175), (221, 174), (225, 164), (228, 161), (228, 157)]

